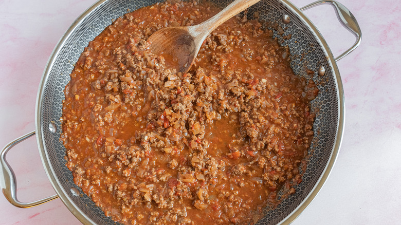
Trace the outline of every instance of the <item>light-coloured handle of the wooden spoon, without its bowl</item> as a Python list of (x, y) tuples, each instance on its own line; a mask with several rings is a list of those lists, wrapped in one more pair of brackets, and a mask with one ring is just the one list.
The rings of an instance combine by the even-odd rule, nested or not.
[(218, 26), (222, 25), (224, 22), (229, 20), (229, 18), (233, 17), (234, 15), (244, 11), (245, 9), (249, 8), (250, 6), (258, 3), (260, 0), (235, 0), (222, 11), (214, 15), (213, 17), (209, 18), (209, 20), (199, 24), (196, 26), (197, 32), (194, 36), (207, 36), (210, 32), (216, 29)]

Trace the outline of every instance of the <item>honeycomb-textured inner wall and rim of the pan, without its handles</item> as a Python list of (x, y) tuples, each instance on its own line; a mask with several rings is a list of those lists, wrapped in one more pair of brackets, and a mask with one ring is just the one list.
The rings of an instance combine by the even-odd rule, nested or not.
[[(125, 14), (127, 9), (132, 11), (156, 2), (159, 1), (104, 1), (79, 21), (70, 33), (66, 34), (65, 42), (56, 52), (54, 60), (48, 65), (48, 73), (44, 74), (47, 79), (43, 79), (45, 83), (42, 84), (43, 101), (38, 103), (42, 106), (42, 110), (38, 112), (41, 117), (41, 124), (38, 126), (41, 126), (43, 137), (40, 141), (43, 142), (53, 175), (60, 184), (60, 188), (64, 190), (66, 197), (63, 198), (63, 201), (71, 202), (78, 211), (96, 224), (114, 224), (115, 222), (110, 217), (106, 217), (90, 197), (83, 194), (74, 183), (71, 172), (65, 166), (65, 147), (59, 141), (61, 134), (59, 119), (62, 116), (64, 87), (69, 82), (69, 74), (89, 41), (92, 41), (105, 27), (110, 25), (112, 20)], [(220, 7), (225, 7), (232, 1), (214, 0), (212, 2)], [(254, 11), (259, 12), (261, 20), (280, 25), (285, 31), (284, 35), (291, 34), (291, 39), (283, 40), (282, 36), (275, 31), (275, 37), (279, 39), (279, 43), (290, 49), (291, 67), (294, 72), (306, 79), (313, 79), (316, 84), (319, 84), (319, 95), (312, 101), (312, 111), (318, 111), (314, 123), (315, 136), (309, 150), (303, 181), (297, 186), (294, 195), (283, 200), (276, 209), (266, 209), (262, 219), (258, 222), (258, 224), (277, 224), (293, 212), (311, 192), (331, 157), (338, 128), (339, 97), (336, 74), (333, 66), (327, 60), (329, 56), (309, 25), (280, 0), (261, 1), (249, 9), (248, 15), (251, 17)], [(291, 20), (287, 25), (282, 23), (281, 18), (284, 14), (288, 15)], [(318, 76), (316, 72), (319, 66), (325, 67), (326, 73), (323, 77)], [(315, 74), (307, 75), (306, 68), (315, 71)], [(56, 133), (49, 131), (48, 127), (51, 122), (56, 122)], [(70, 188), (77, 188), (81, 195), (73, 195)]]

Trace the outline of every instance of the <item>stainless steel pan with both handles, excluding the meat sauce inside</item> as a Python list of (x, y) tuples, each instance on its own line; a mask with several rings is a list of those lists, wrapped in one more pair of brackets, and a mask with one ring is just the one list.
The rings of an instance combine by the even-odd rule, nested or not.
[[(29, 208), (60, 197), (66, 207), (84, 224), (113, 224), (100, 208), (75, 185), (72, 174), (65, 166), (65, 148), (59, 141), (64, 87), (84, 47), (92, 41), (113, 19), (126, 13), (158, 2), (157, 0), (101, 0), (87, 9), (64, 34), (54, 48), (44, 70), (38, 91), (35, 115), (36, 130), (10, 142), (1, 153), (0, 185), (3, 194), (16, 207)], [(225, 7), (231, 1), (212, 1)], [(339, 21), (356, 36), (355, 44), (334, 58), (320, 32), (302, 10), (331, 4)], [(275, 31), (275, 37), (288, 46), (291, 52), (291, 67), (298, 76), (313, 79), (319, 84), (319, 96), (312, 101), (312, 110), (318, 111), (314, 123), (315, 136), (309, 150), (308, 164), (303, 181), (296, 193), (284, 199), (276, 209), (265, 209), (258, 224), (288, 224), (293, 221), (314, 199), (329, 176), (336, 160), (344, 126), (344, 94), (336, 61), (353, 51), (361, 41), (361, 31), (352, 13), (335, 1), (318, 1), (301, 9), (287, 0), (265, 0), (249, 10), (249, 16), (258, 11), (262, 20), (284, 28), (284, 40)], [(315, 71), (313, 77), (306, 70)], [(36, 134), (43, 166), (57, 195), (29, 203), (16, 198), (15, 177), (6, 161), (7, 152), (17, 143)]]

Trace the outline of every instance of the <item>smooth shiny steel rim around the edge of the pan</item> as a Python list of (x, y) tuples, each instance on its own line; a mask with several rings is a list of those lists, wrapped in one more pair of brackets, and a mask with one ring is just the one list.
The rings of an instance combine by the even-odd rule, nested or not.
[[(38, 148), (39, 148), (39, 153), (40, 157), (42, 160), (43, 167), (45, 168), (45, 172), (47, 177), (49, 178), (49, 181), (51, 185), (53, 186), (54, 191), (58, 194), (62, 202), (66, 205), (68, 210), (74, 214), (83, 224), (96, 224), (92, 219), (87, 217), (78, 207), (77, 205), (68, 197), (66, 194), (65, 190), (61, 188), (61, 184), (59, 183), (58, 179), (55, 176), (54, 170), (52, 166), (50, 165), (49, 162), (49, 157), (46, 151), (46, 147), (44, 145), (44, 137), (43, 137), (43, 130), (42, 130), (42, 102), (44, 98), (44, 90), (45, 86), (49, 77), (50, 70), (52, 68), (53, 62), (56, 60), (58, 52), (61, 50), (63, 47), (64, 43), (68, 39), (68, 37), (71, 35), (72, 32), (74, 32), (75, 28), (84, 20), (84, 18), (92, 13), (98, 6), (103, 4), (108, 0), (99, 0), (92, 6), (90, 6), (88, 9), (86, 9), (72, 24), (71, 26), (67, 29), (67, 31), (64, 33), (64, 35), (61, 37), (60, 41), (56, 45), (56, 47), (53, 49), (52, 53), (50, 54), (49, 60), (47, 61), (46, 67), (44, 69), (39, 90), (38, 90), (38, 95), (37, 95), (37, 102), (36, 102), (36, 109), (35, 109), (35, 130), (37, 134), (37, 143), (38, 143)], [(324, 40), (324, 37), (321, 35), (319, 30), (316, 28), (316, 26), (312, 23), (311, 20), (293, 3), (287, 1), (287, 0), (279, 0), (288, 8), (294, 10), (298, 16), (309, 26), (309, 29), (312, 29), (312, 33), (314, 33), (317, 37), (317, 39), (321, 42), (323, 49), (325, 50), (325, 53), (329, 56), (329, 60), (327, 60), (328, 63), (332, 66), (332, 69), (334, 71), (335, 79), (336, 79), (336, 92), (337, 92), (337, 101), (338, 101), (338, 112), (337, 112), (337, 133), (335, 137), (335, 143), (332, 148), (331, 155), (329, 157), (329, 160), (327, 161), (327, 164), (320, 175), (318, 181), (314, 185), (313, 189), (309, 194), (305, 197), (305, 199), (298, 205), (296, 209), (294, 209), (288, 216), (286, 216), (283, 220), (279, 222), (279, 224), (289, 224), (293, 222), (307, 207), (308, 205), (314, 200), (314, 198), (317, 196), (317, 194), (320, 192), (322, 186), (324, 185), (325, 181), (329, 177), (332, 168), (336, 162), (338, 152), (341, 146), (342, 142), (342, 137), (343, 137), (343, 128), (344, 128), (344, 123), (345, 123), (345, 100), (344, 100), (344, 91), (343, 91), (343, 85), (340, 77), (340, 73), (338, 70), (337, 63), (335, 61), (334, 55), (330, 49), (330, 47), (327, 45), (326, 41)]]

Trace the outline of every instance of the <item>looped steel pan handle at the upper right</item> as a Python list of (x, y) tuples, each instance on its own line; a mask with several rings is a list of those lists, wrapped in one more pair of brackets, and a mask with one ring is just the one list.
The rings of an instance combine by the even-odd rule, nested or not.
[(334, 7), (334, 9), (336, 10), (336, 15), (338, 20), (341, 22), (341, 24), (347, 28), (347, 30), (351, 31), (351, 33), (353, 33), (356, 37), (356, 41), (355, 44), (349, 48), (347, 51), (343, 52), (342, 54), (340, 54), (335, 60), (339, 61), (340, 59), (342, 59), (343, 57), (345, 57), (345, 55), (348, 55), (350, 52), (352, 52), (353, 50), (355, 50), (359, 44), (360, 41), (362, 39), (362, 32), (360, 31), (358, 22), (356, 21), (356, 18), (354, 17), (354, 15), (350, 12), (350, 10), (347, 9), (347, 7), (345, 7), (344, 5), (342, 5), (339, 2), (336, 2), (334, 0), (322, 0), (322, 1), (317, 1), (314, 3), (311, 3), (309, 5), (306, 5), (302, 8), (300, 8), (301, 10), (306, 10), (306, 9), (310, 9), (312, 7), (321, 5), (321, 4), (330, 4)]

